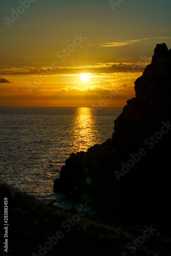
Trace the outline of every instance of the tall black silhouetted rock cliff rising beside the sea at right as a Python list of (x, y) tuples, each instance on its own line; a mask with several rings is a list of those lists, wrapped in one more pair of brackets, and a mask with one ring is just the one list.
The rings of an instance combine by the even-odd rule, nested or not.
[[(170, 193), (171, 49), (158, 44), (135, 81), (136, 97), (115, 120), (112, 139), (72, 153), (54, 190), (101, 210), (168, 210)], [(140, 210), (141, 209), (141, 210)]]

